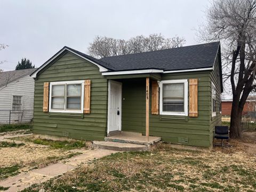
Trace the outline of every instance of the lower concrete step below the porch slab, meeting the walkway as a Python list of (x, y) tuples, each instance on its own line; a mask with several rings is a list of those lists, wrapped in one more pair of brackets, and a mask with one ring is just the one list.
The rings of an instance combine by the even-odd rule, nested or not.
[(119, 143), (111, 141), (93, 141), (94, 149), (108, 149), (116, 151), (148, 151), (150, 146), (133, 143)]

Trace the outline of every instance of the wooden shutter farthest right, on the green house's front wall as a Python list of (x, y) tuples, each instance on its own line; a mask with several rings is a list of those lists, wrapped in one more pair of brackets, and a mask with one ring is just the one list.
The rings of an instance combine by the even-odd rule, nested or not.
[(198, 117), (197, 79), (189, 79), (189, 117)]

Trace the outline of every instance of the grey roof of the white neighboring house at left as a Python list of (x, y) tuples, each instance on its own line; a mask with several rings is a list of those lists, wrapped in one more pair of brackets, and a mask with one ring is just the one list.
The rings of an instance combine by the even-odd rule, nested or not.
[(2, 73), (0, 73), (0, 87), (3, 85), (6, 85), (8, 83), (11, 83), (21, 77), (30, 75), (35, 70), (36, 70), (36, 68), (2, 72)]

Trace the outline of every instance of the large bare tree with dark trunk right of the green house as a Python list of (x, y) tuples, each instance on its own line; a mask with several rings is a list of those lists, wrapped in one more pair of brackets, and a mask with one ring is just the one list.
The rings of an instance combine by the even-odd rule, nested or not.
[(256, 1), (214, 0), (206, 13), (201, 39), (222, 43), (223, 80), (230, 79), (233, 95), (230, 137), (239, 138), (245, 102), (256, 87)]

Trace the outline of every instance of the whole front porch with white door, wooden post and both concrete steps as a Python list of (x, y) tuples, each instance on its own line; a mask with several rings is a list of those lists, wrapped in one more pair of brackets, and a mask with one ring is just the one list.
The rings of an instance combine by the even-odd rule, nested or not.
[[(149, 129), (150, 105), (153, 101), (151, 87), (157, 85), (159, 76), (141, 74), (107, 78), (107, 137), (105, 141), (94, 141), (93, 147), (117, 151), (150, 150), (156, 142), (161, 141), (161, 137), (154, 137)], [(158, 98), (158, 85), (155, 90)]]

